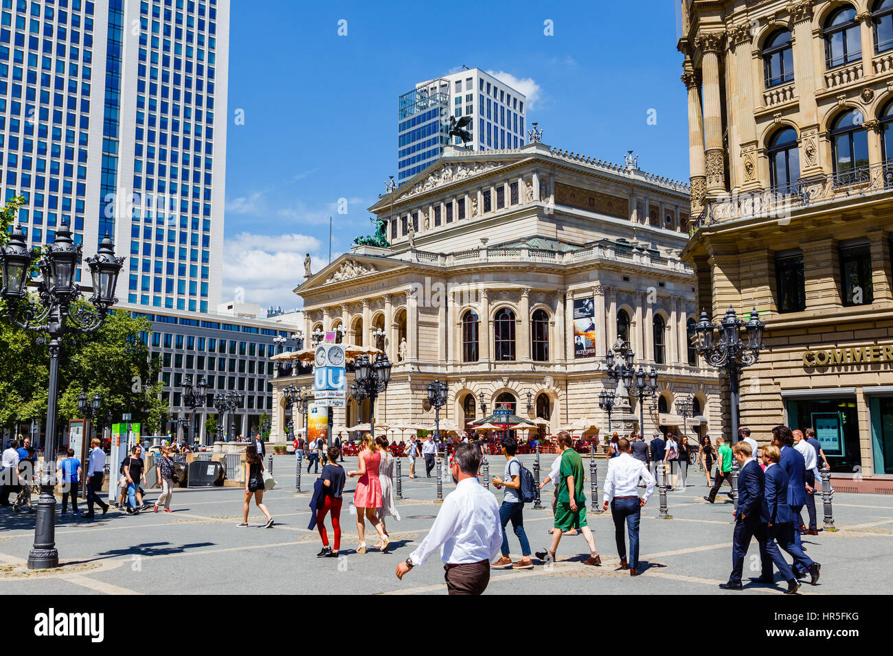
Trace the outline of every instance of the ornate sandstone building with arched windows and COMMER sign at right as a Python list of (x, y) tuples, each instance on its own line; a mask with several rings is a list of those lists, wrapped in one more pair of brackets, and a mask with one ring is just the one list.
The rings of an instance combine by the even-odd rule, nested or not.
[[(698, 305), (756, 306), (742, 421), (893, 491), (893, 2), (682, 0)], [(702, 106), (703, 103), (703, 106)], [(863, 480), (864, 478), (864, 480)], [(870, 484), (869, 484), (870, 482)]]

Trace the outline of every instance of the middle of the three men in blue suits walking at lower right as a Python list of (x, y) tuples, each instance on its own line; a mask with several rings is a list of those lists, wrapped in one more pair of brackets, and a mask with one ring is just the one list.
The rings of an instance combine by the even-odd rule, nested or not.
[[(763, 493), (763, 510), (762, 520), (764, 527), (765, 548), (766, 552), (772, 558), (788, 582), (788, 590), (785, 594), (794, 594), (800, 589), (800, 584), (794, 572), (790, 569), (788, 561), (784, 560), (784, 556), (779, 551), (778, 540), (785, 544), (789, 527), (794, 525), (794, 513), (790, 511), (788, 505), (788, 475), (778, 466), (780, 458), (779, 448), (775, 444), (769, 444), (763, 447), (763, 464), (765, 466), (764, 473), (764, 493)], [(818, 570), (816, 570), (818, 572)], [(816, 575), (816, 580), (818, 576)], [(757, 583), (775, 583), (775, 577), (772, 575), (772, 566), (769, 567), (768, 576), (766, 569), (763, 570), (763, 576), (756, 579)]]

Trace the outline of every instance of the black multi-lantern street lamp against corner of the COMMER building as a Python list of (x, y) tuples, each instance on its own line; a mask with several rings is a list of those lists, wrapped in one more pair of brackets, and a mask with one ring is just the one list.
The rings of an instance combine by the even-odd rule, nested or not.
[[(741, 370), (760, 359), (760, 351), (764, 349), (763, 330), (766, 324), (759, 320), (754, 308), (745, 321), (735, 315), (730, 307), (717, 326), (707, 318), (707, 312), (701, 311), (701, 320), (695, 326), (697, 334), (697, 353), (713, 367), (721, 369), (729, 378), (731, 393), (731, 428), (729, 441), (732, 442), (739, 427), (739, 386)], [(747, 330), (747, 344), (741, 339), (741, 328)], [(714, 331), (719, 341), (714, 344)]]

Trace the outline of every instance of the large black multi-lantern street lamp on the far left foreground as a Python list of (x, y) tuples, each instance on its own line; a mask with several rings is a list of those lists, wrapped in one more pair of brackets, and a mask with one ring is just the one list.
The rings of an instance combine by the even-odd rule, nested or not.
[(40, 333), (38, 344), (46, 344), (50, 355), (49, 390), (46, 403), (46, 461), (40, 477), (40, 499), (34, 529), (34, 545), (28, 555), (29, 569), (48, 569), (59, 566), (59, 552), (55, 548), (55, 457), (56, 403), (59, 394), (59, 351), (67, 332), (89, 333), (102, 326), (109, 308), (118, 299), (115, 287), (124, 258), (115, 257), (112, 240), (105, 237), (96, 255), (87, 259), (93, 278), (93, 295), (88, 303), (74, 304), (80, 296), (75, 282), (81, 261), (81, 245), (71, 239), (68, 221), (55, 234), (54, 244), (44, 246), (38, 261), (41, 280), (38, 282), (38, 302), (28, 298), (28, 278), (37, 253), (30, 252), (21, 227), (13, 229), (9, 243), (0, 249), (3, 270), (3, 289), (6, 313), (19, 328)]

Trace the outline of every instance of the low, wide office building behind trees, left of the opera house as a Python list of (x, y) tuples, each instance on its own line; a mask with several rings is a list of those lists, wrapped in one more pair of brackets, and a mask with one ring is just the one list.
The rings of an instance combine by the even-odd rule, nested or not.
[[(205, 444), (214, 436), (205, 436), (204, 421), (216, 414), (214, 394), (234, 390), (244, 394), (242, 407), (233, 413), (234, 435), (249, 435), (259, 428), (264, 412), (272, 414), (272, 392), (269, 380), (275, 364), (270, 356), (290, 350), (288, 339), (298, 326), (272, 320), (256, 319), (232, 314), (189, 311), (146, 311), (132, 303), (121, 303), (117, 309), (152, 322), (152, 332), (142, 335), (154, 357), (162, 358), (160, 379), (163, 398), (170, 411), (163, 424), (163, 432), (176, 431), (171, 417), (190, 416), (191, 409), (182, 403), (183, 378), (191, 376), (194, 383), (204, 377), (207, 399), (195, 411), (196, 439)], [(188, 427), (179, 435), (188, 435)]]

